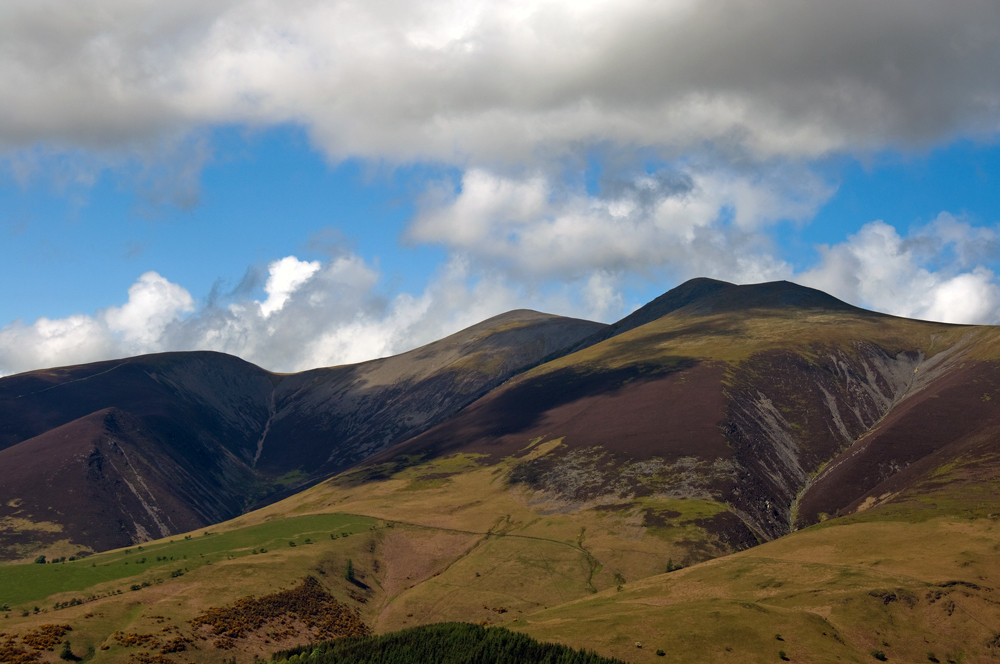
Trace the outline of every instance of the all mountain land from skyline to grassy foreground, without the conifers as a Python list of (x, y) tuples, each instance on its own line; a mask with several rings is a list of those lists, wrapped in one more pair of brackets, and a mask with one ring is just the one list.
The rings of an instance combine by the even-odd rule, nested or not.
[[(502, 624), (625, 661), (1000, 654), (1000, 328), (695, 280), (611, 326), (514, 312), (290, 376), (221, 358), (0, 381), (0, 440), (22, 440), (0, 486), (28, 492), (2, 498), (7, 541), (50, 559), (0, 565), (0, 661), (65, 626), (54, 643), (94, 661), (250, 662), (335, 635), (318, 615)], [(470, 374), (489, 378), (427, 414)], [(69, 539), (64, 512), (93, 505), (94, 527), (144, 492), (173, 517), (169, 485), (202, 470), (182, 445), (215, 459), (196, 477), (216, 500), (237, 471), (232, 496), (284, 497), (55, 564), (73, 549), (14, 539)], [(80, 480), (95, 454), (106, 481)]]

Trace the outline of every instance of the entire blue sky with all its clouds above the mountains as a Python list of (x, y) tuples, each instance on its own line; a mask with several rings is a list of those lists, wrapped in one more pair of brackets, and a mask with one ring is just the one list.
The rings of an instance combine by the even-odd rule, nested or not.
[(1000, 7), (0, 8), (0, 375), (290, 371), (695, 276), (1000, 323)]

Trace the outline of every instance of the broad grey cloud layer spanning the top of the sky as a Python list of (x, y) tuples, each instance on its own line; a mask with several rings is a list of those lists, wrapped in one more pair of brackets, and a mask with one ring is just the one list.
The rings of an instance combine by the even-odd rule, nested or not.
[(334, 158), (815, 156), (995, 132), (992, 0), (89, 0), (0, 9), (0, 144), (308, 126)]

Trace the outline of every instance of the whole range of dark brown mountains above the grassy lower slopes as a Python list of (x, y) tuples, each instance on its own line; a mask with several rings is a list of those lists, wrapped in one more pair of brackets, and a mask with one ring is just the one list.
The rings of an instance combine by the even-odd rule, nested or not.
[[(0, 379), (0, 457), (10, 460), (0, 464), (0, 526), (90, 520), (73, 501), (43, 518), (46, 500), (30, 487), (56, 471), (15, 461), (39, 445), (60, 483), (104, 504), (118, 525), (90, 544), (74, 539), (81, 525), (0, 527), (0, 547), (18, 557), (60, 541), (74, 550), (136, 543), (359, 464), (496, 460), (535, 439), (561, 442), (514, 471), (515, 485), (569, 509), (629, 496), (716, 501), (724, 514), (704, 526), (712, 546), (752, 546), (856, 508), (897, 473), (893, 464), (936, 453), (933, 441), (908, 452), (889, 427), (906, 419), (900, 403), (913, 385), (938, 384), (976, 353), (988, 361), (963, 375), (992, 385), (997, 354), (962, 341), (990, 330), (869, 312), (789, 282), (695, 279), (612, 325), (514, 310), (397, 356), (295, 374), (206, 351), (27, 372)], [(968, 435), (993, 426), (983, 418)], [(95, 459), (135, 461), (72, 453), (64, 462), (56, 441), (67, 437)], [(880, 441), (880, 470), (839, 460), (870, 447), (857, 447), (865, 437)], [(19, 467), (30, 472), (11, 475)]]

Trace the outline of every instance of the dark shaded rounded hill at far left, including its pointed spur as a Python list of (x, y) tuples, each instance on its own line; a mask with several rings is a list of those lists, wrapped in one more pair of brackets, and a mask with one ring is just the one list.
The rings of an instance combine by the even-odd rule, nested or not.
[(0, 529), (0, 547), (112, 548), (239, 514), (274, 382), (219, 353), (0, 380), (0, 519), (19, 526)]

